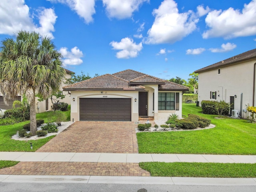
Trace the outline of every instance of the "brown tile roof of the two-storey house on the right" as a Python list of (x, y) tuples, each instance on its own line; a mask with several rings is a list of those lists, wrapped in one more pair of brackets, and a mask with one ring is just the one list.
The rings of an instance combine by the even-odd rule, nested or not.
[(246, 51), (244, 53), (241, 53), (239, 55), (230, 57), (226, 60), (220, 61), (218, 63), (214, 63), (212, 65), (206, 66), (204, 68), (198, 69), (195, 71), (195, 73), (200, 73), (200, 72), (204, 72), (204, 71), (208, 71), (208, 70), (212, 70), (212, 69), (216, 69), (216, 68), (220, 68), (223, 66), (228, 66), (231, 64), (236, 64), (238, 62), (242, 62), (242, 61), (246, 61), (246, 60), (250, 60), (256, 58), (256, 49), (250, 50), (250, 51)]

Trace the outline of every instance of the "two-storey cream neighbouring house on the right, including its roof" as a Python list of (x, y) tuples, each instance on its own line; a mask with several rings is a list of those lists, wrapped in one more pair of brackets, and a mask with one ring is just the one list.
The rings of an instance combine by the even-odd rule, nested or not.
[(246, 118), (247, 106), (255, 106), (256, 49), (206, 66), (198, 73), (198, 101), (224, 100), (234, 116)]

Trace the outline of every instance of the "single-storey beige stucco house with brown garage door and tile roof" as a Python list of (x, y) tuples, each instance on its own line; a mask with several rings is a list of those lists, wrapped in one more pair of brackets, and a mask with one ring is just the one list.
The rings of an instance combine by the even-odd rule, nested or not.
[(134, 70), (105, 74), (63, 87), (71, 93), (71, 120), (138, 121), (139, 116), (167, 120), (182, 116), (182, 92), (188, 87)]

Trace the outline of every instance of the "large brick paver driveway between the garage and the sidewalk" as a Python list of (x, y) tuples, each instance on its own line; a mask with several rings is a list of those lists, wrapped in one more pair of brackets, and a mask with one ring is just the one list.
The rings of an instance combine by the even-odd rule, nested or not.
[(74, 122), (37, 152), (138, 153), (134, 122)]

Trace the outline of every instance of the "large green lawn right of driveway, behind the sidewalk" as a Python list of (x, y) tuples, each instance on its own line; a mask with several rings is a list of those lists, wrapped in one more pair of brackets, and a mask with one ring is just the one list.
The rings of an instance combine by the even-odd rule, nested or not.
[(137, 133), (139, 153), (256, 154), (256, 124), (247, 120), (202, 114), (196, 104), (184, 104), (183, 115), (197, 114), (216, 127), (196, 131)]

